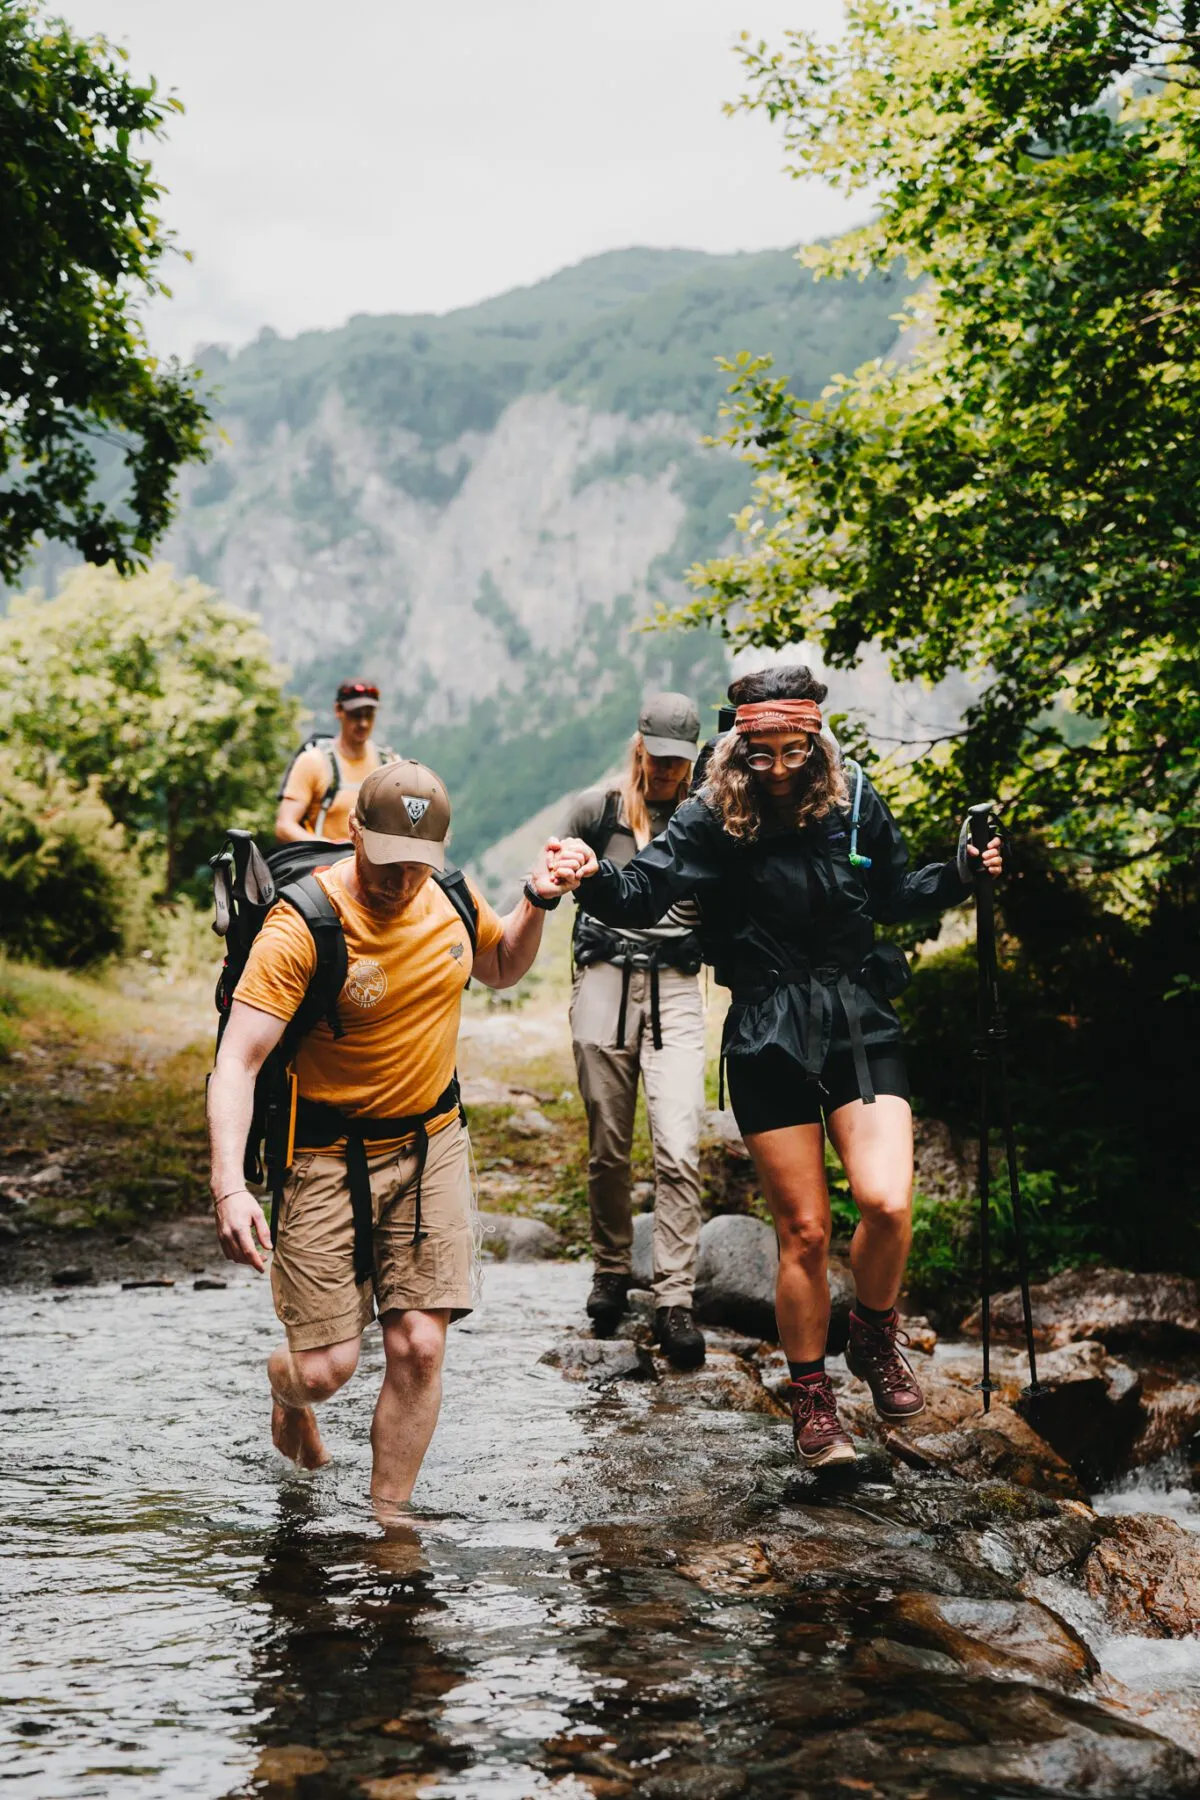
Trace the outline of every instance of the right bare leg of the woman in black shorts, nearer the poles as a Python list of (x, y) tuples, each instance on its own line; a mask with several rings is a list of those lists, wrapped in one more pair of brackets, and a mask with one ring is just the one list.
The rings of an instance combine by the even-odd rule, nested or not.
[(885, 1312), (912, 1244), (912, 1109), (898, 1094), (878, 1094), (873, 1107), (851, 1100), (829, 1114), (829, 1138), (860, 1215), (849, 1246), (855, 1292)]

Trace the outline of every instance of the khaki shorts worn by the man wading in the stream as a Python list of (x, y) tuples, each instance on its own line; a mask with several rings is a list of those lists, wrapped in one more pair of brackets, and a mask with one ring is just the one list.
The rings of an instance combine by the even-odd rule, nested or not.
[(387, 1150), (367, 1161), (374, 1210), (374, 1280), (354, 1282), (354, 1215), (345, 1157), (302, 1150), (282, 1192), (272, 1258), (275, 1312), (293, 1350), (358, 1337), (376, 1312), (450, 1312), (473, 1303), (475, 1215), (470, 1139), (455, 1120), (430, 1138), (416, 1222), (417, 1157)]

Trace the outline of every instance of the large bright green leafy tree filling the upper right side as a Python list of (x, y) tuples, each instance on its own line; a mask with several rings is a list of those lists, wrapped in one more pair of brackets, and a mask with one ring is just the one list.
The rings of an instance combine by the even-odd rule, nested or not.
[(730, 364), (757, 504), (687, 616), (970, 671), (930, 824), (1000, 794), (1126, 900), (1195, 882), (1200, 5), (851, 0), (840, 43), (745, 65), (797, 175), (878, 194), (810, 261), (916, 292), (894, 360), (819, 400)]

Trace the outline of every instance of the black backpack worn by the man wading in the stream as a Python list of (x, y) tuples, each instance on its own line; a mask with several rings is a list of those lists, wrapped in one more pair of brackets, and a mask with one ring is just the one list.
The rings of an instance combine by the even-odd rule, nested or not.
[[(225, 844), (210, 859), (216, 918), (212, 931), (225, 940), (225, 961), (216, 981), (216, 1048), (221, 1048), (234, 992), (257, 938), (263, 920), (277, 900), (295, 907), (317, 947), (317, 968), (304, 999), (288, 1021), (282, 1039), (270, 1053), (254, 1084), (254, 1111), (246, 1132), (243, 1174), (246, 1181), (266, 1184), (273, 1199), (272, 1237), (295, 1139), (297, 1080), (291, 1069), (300, 1039), (324, 1019), (335, 1037), (344, 1037), (338, 995), (345, 983), (347, 954), (342, 920), (317, 880), (353, 855), (347, 844), (326, 839), (279, 844), (263, 855), (252, 832), (228, 830)], [(479, 941), (479, 911), (462, 869), (434, 869), (434, 880), (466, 927), (471, 956)]]

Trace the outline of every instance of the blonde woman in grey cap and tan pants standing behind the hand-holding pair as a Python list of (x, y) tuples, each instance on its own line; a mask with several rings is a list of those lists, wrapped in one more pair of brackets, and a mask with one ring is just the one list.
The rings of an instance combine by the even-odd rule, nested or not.
[[(588, 788), (563, 823), (596, 857), (624, 868), (666, 832), (687, 796), (700, 716), (682, 693), (653, 695), (637, 722), (621, 783)], [(570, 1039), (588, 1116), (588, 1206), (596, 1280), (588, 1318), (612, 1332), (631, 1285), (630, 1150), (639, 1075), (655, 1150), (655, 1339), (676, 1368), (703, 1363), (691, 1314), (700, 1240), (703, 1004), (694, 907), (642, 931), (576, 916)]]

